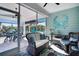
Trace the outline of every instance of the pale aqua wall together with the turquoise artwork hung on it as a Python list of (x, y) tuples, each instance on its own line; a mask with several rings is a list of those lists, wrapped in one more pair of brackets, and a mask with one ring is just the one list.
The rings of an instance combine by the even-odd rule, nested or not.
[(51, 13), (47, 18), (47, 35), (52, 29), (55, 34), (68, 35), (79, 32), (79, 6)]

